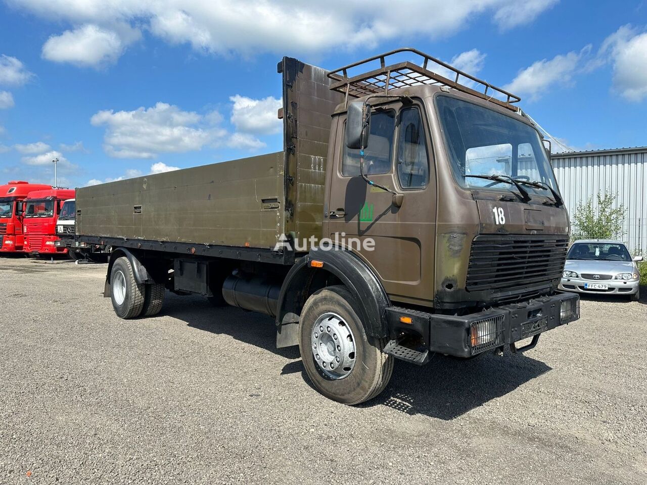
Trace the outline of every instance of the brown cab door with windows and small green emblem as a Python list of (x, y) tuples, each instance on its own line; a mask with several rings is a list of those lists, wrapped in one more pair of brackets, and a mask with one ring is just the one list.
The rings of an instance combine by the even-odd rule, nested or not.
[(380, 105), (371, 113), (364, 173), (404, 195), (371, 186), (360, 176), (360, 155), (336, 137), (324, 236), (353, 251), (380, 277), (391, 299), (432, 306), (436, 180), (424, 107)]

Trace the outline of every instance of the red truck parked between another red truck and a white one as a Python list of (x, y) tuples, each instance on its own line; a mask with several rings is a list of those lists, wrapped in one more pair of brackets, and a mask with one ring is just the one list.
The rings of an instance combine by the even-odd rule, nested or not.
[(73, 189), (48, 189), (30, 192), (25, 199), (25, 252), (38, 255), (67, 254), (57, 247), (56, 222), (63, 202), (74, 199)]

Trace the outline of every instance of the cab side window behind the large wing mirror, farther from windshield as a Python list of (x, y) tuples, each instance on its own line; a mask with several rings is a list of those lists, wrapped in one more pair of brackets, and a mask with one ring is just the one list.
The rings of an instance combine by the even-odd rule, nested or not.
[[(393, 154), (393, 133), (395, 132), (395, 111), (378, 111), (371, 114), (371, 133), (364, 148), (364, 174), (389, 173)], [(360, 175), (360, 151), (349, 149), (345, 143), (342, 160), (342, 175)]]

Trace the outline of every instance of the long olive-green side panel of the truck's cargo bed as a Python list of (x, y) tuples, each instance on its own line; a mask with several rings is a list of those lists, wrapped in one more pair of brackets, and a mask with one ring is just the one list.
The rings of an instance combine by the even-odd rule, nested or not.
[(285, 232), (283, 152), (76, 191), (78, 235), (273, 248)]

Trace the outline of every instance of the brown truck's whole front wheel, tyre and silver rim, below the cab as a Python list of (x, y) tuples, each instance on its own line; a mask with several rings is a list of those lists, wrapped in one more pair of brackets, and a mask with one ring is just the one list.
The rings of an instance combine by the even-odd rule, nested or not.
[(385, 339), (366, 335), (358, 303), (345, 286), (328, 286), (305, 302), (299, 349), (314, 387), (343, 404), (360, 404), (380, 394), (393, 373)]

